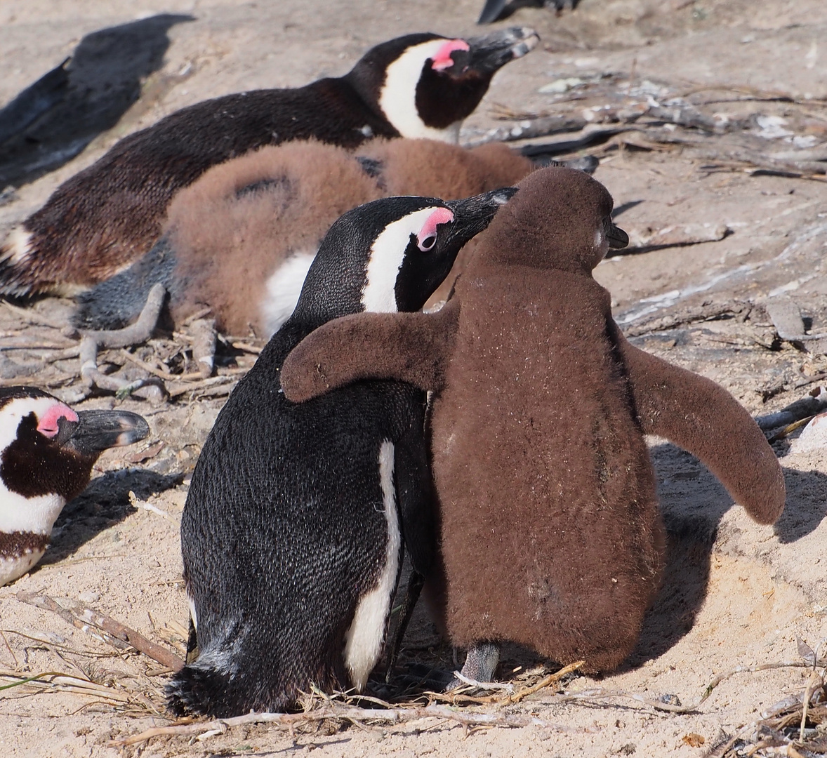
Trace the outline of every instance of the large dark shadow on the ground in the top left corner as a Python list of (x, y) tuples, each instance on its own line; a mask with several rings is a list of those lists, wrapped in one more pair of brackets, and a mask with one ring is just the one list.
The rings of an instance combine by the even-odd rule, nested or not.
[(9, 122), (27, 126), (0, 146), (0, 189), (59, 168), (115, 126), (141, 97), (141, 80), (163, 64), (167, 31), (184, 21), (194, 17), (162, 13), (93, 31), (65, 66), (64, 83), (58, 67), (8, 103)]

